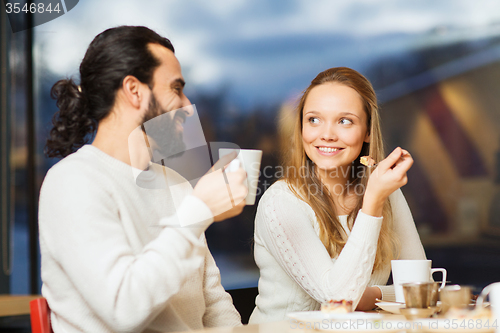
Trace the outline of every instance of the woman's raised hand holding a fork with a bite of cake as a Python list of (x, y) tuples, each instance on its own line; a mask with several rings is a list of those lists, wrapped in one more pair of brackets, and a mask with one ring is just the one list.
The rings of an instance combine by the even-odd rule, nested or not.
[(396, 148), (370, 175), (363, 199), (363, 213), (382, 216), (385, 200), (408, 181), (406, 172), (413, 164), (411, 155), (404, 149)]

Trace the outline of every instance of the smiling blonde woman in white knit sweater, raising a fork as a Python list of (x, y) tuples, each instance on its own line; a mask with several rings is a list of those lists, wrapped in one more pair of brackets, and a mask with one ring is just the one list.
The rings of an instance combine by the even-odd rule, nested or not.
[[(370, 82), (344, 67), (318, 74), (299, 101), (295, 124), (286, 175), (257, 210), (260, 279), (251, 323), (319, 310), (329, 300), (373, 309), (376, 298), (394, 300), (394, 288), (386, 286), (392, 259), (425, 259), (399, 190), (413, 160), (401, 148), (383, 159)], [(367, 155), (378, 165), (361, 165)]]

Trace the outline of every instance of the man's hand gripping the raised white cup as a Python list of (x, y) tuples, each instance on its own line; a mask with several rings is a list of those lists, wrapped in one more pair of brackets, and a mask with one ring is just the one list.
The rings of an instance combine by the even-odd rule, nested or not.
[(193, 191), (193, 195), (200, 198), (210, 208), (215, 221), (236, 216), (245, 207), (245, 197), (248, 194), (245, 170), (240, 167), (234, 172), (225, 171), (236, 156), (235, 152), (223, 156), (200, 179)]

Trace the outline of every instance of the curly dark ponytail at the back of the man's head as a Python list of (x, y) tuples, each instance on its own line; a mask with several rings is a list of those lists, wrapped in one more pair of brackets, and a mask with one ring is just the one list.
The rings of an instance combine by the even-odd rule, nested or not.
[(88, 114), (81, 88), (73, 80), (58, 81), (50, 95), (57, 101), (59, 111), (52, 118), (45, 154), (66, 157), (89, 141), (89, 134), (94, 133), (97, 124)]

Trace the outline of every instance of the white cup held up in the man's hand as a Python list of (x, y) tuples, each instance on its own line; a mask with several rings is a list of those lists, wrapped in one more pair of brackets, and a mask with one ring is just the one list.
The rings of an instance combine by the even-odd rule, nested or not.
[(248, 195), (245, 198), (245, 203), (247, 205), (253, 205), (255, 204), (257, 185), (259, 183), (260, 161), (262, 159), (262, 150), (256, 150), (256, 149), (237, 150), (229, 148), (220, 148), (219, 158), (227, 154), (230, 154), (233, 151), (238, 152), (238, 156), (236, 158), (240, 161), (243, 169), (247, 173)]

